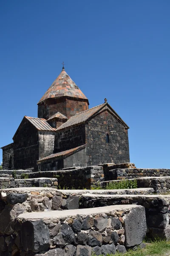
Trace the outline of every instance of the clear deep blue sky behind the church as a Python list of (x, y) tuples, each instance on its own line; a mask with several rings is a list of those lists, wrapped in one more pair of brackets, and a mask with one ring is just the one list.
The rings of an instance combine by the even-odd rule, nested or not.
[(130, 126), (131, 162), (170, 168), (169, 0), (1, 0), (0, 147), (62, 61), (90, 107), (106, 97)]

